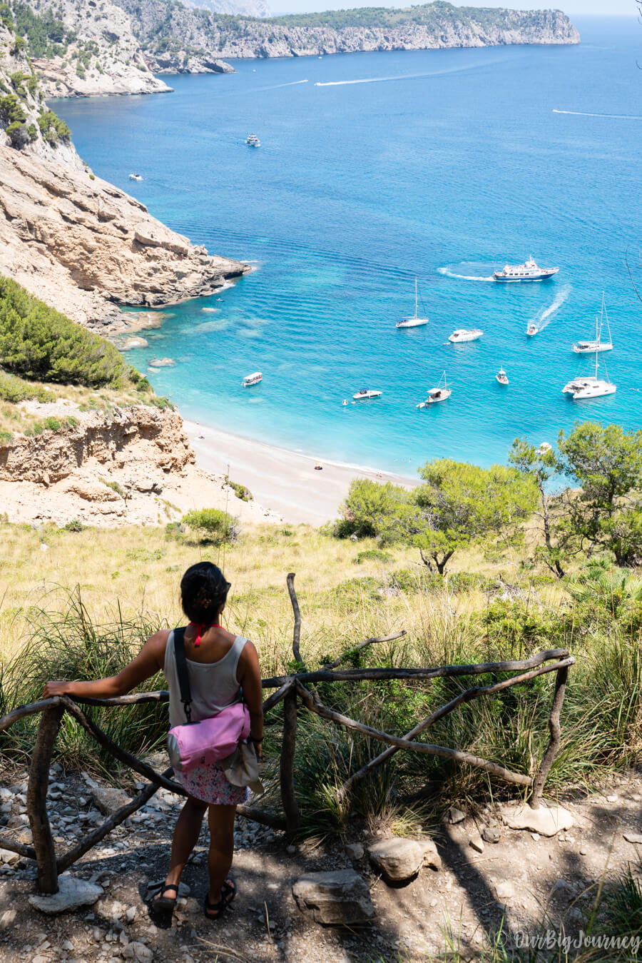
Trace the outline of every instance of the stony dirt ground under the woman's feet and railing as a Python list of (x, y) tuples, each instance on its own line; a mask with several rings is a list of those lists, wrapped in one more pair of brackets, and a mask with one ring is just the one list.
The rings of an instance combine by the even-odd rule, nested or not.
[[(6, 823), (0, 832), (23, 842), (30, 841), (26, 775), (7, 769), (0, 776), (0, 820)], [(87, 774), (54, 766), (49, 812), (59, 851), (103, 820), (101, 811), (127, 798)], [(509, 829), (499, 811), (486, 808), (474, 815), (454, 807), (434, 833), (436, 848), (430, 841), (391, 841), (385, 831), (372, 836), (356, 820), (351, 842), (337, 837), (293, 844), (280, 832), (239, 819), (233, 868), (239, 894), (233, 908), (218, 924), (203, 915), (204, 830), (184, 874), (178, 908), (164, 928), (163, 921), (150, 920), (140, 894), (148, 881), (164, 876), (180, 806), (178, 797), (161, 790), (71, 868), (71, 877), (93, 884), (93, 901), (84, 908), (59, 916), (40, 912), (29, 900), (34, 865), (0, 851), (0, 954), (7, 963), (406, 963), (442, 952), (450, 928), (459, 934), (463, 958), (475, 959), (484, 930), (499, 928), (502, 918), (504, 932), (513, 936), (536, 934), (546, 916), (550, 927), (563, 923), (567, 933), (576, 932), (599, 882), (608, 886), (629, 863), (639, 867), (641, 799), (641, 773), (630, 772), (599, 794), (565, 802), (572, 825), (551, 837)], [(377, 854), (391, 843), (402, 853)], [(409, 880), (385, 881), (385, 870), (407, 873), (413, 863), (419, 872)], [(334, 876), (334, 884), (324, 880), (325, 896), (314, 876), (319, 872)], [(343, 927), (316, 922), (315, 916), (328, 913), (353, 922)], [(360, 913), (372, 918), (357, 924)]]

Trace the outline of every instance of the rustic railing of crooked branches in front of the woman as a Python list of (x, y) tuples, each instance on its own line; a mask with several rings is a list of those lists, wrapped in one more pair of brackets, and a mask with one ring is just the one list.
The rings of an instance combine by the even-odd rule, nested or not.
[[(339, 800), (349, 793), (357, 781), (372, 772), (372, 769), (381, 766), (400, 749), (404, 749), (411, 752), (423, 752), (427, 755), (441, 756), (445, 759), (453, 759), (459, 763), (483, 769), (494, 776), (499, 776), (506, 782), (529, 788), (531, 790), (529, 799), (531, 808), (536, 809), (539, 807), (544, 784), (559, 747), (559, 716), (564, 699), (568, 670), (575, 662), (575, 660), (569, 656), (567, 649), (549, 649), (545, 652), (538, 652), (529, 659), (520, 662), (438, 665), (427, 668), (339, 668), (348, 657), (353, 656), (354, 653), (361, 649), (381, 642), (395, 641), (405, 635), (404, 632), (398, 632), (395, 635), (382, 638), (367, 638), (355, 647), (348, 649), (333, 663), (323, 665), (322, 668), (314, 671), (307, 671), (300, 652), (301, 615), (296, 599), (294, 573), (288, 575), (287, 584), (295, 616), (293, 654), (296, 664), (301, 666), (301, 670), (292, 672), (290, 675), (272, 676), (270, 679), (263, 679), (264, 689), (275, 690), (263, 703), (264, 712), (268, 713), (277, 703), (283, 702), (283, 737), (279, 767), (283, 816), (264, 812), (253, 806), (239, 806), (239, 813), (247, 819), (261, 822), (272, 828), (284, 829), (288, 832), (294, 832), (297, 828), (299, 824), (299, 811), (295, 794), (295, 750), (299, 699), (302, 706), (317, 716), (321, 716), (321, 718), (355, 732), (360, 732), (377, 742), (384, 742), (387, 745), (387, 748), (372, 759), (371, 762), (349, 776), (343, 786), (337, 790), (337, 798)], [(402, 737), (393, 736), (390, 733), (373, 729), (372, 726), (364, 725), (364, 723), (356, 719), (329, 709), (323, 705), (317, 692), (310, 688), (314, 683), (318, 682), (332, 683), (374, 679), (408, 679), (416, 681), (443, 677), (451, 678), (482, 674), (494, 675), (507, 672), (515, 672), (517, 674), (511, 675), (509, 678), (503, 679), (501, 682), (493, 683), (492, 685), (474, 686), (471, 689), (460, 692), (448, 703), (435, 710), (429, 716), (426, 716), (422, 722)], [(425, 732), (431, 725), (444, 716), (447, 716), (458, 706), (470, 702), (479, 696), (492, 695), (495, 692), (500, 692), (511, 686), (529, 682), (547, 672), (557, 673), (552, 698), (551, 715), (549, 718), (550, 742), (540, 767), (534, 776), (528, 776), (521, 772), (513, 772), (511, 769), (504, 768), (498, 763), (481, 759), (479, 756), (472, 755), (469, 752), (462, 752), (458, 749), (451, 749), (448, 746), (436, 745), (431, 742), (415, 742), (415, 737)], [(88, 852), (92, 846), (96, 846), (112, 829), (140, 809), (159, 787), (165, 787), (165, 789), (172, 793), (186, 795), (183, 787), (169, 778), (172, 771), (170, 768), (160, 774), (142, 762), (141, 759), (127, 752), (111, 740), (95, 722), (86, 716), (78, 705), (78, 702), (94, 706), (116, 707), (132, 705), (133, 703), (139, 702), (167, 702), (168, 697), (166, 691), (138, 692), (112, 699), (83, 698), (73, 700), (66, 695), (57, 695), (49, 699), (41, 699), (27, 706), (17, 706), (12, 712), (0, 718), (0, 732), (2, 732), (19, 719), (25, 718), (26, 716), (33, 716), (37, 713), (42, 714), (36, 742), (34, 744), (34, 751), (31, 757), (27, 791), (27, 815), (31, 826), (33, 846), (27, 846), (0, 836), (0, 846), (17, 852), (27, 859), (36, 860), (38, 864), (38, 886), (40, 892), (57, 893), (59, 873), (68, 869), (69, 866)], [(131, 802), (121, 806), (120, 809), (113, 813), (101, 825), (96, 826), (87, 836), (78, 842), (76, 846), (72, 846), (64, 853), (58, 855), (47, 815), (47, 789), (54, 743), (65, 712), (73, 716), (80, 725), (90, 733), (95, 741), (106, 749), (115, 759), (132, 768), (135, 772), (138, 772), (139, 775), (144, 776), (148, 780), (148, 783)]]

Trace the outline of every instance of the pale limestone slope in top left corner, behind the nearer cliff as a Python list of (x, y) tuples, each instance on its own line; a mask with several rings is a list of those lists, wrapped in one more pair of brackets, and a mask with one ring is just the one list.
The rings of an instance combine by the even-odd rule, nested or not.
[[(20, 16), (23, 0), (9, 0), (46, 97), (169, 91), (153, 75), (127, 13), (111, 0), (28, 0), (36, 27)], [(55, 13), (54, 13), (55, 9)], [(55, 21), (47, 32), (42, 14)], [(33, 21), (32, 21), (33, 22)], [(36, 29), (37, 28), (37, 29)]]

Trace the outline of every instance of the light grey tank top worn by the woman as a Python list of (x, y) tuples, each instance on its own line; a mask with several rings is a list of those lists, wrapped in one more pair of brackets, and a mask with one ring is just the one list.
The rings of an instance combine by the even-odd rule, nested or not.
[[(231, 706), (234, 702), (240, 701), (241, 687), (236, 673), (246, 641), (247, 639), (243, 636), (237, 636), (222, 659), (216, 663), (197, 663), (193, 659), (186, 659), (192, 694), (193, 722), (216, 716), (225, 706)], [(178, 685), (173, 630), (167, 637), (163, 672), (169, 690), (169, 726), (184, 725), (187, 717)]]

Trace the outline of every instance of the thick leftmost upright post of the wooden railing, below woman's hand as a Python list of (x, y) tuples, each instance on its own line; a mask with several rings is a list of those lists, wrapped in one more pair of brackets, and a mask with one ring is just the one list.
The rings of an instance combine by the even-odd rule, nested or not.
[(63, 713), (64, 706), (60, 704), (45, 709), (42, 713), (31, 756), (27, 788), (27, 815), (38, 861), (38, 887), (40, 893), (50, 894), (58, 893), (58, 870), (56, 847), (47, 816), (47, 789), (51, 754)]

